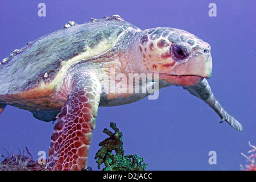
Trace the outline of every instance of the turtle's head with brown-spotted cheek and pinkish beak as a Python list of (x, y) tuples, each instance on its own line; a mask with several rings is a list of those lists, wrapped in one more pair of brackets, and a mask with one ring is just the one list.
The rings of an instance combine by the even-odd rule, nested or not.
[(172, 85), (192, 86), (212, 75), (209, 44), (184, 30), (145, 30), (139, 50), (144, 72), (159, 73), (159, 80)]

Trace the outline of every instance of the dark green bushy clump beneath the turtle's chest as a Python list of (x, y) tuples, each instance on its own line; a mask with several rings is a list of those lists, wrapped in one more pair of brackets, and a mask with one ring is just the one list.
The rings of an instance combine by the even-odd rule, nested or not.
[[(119, 131), (117, 125), (113, 122), (110, 127), (114, 130), (112, 133), (108, 129), (104, 129), (104, 133), (109, 135), (109, 138), (103, 140), (99, 146), (102, 146), (96, 153), (95, 159), (98, 163), (98, 169), (102, 163), (105, 168), (102, 171), (145, 171), (147, 163), (143, 163), (144, 159), (136, 155), (126, 155), (123, 150), (123, 134)], [(115, 151), (113, 154), (112, 151)]]

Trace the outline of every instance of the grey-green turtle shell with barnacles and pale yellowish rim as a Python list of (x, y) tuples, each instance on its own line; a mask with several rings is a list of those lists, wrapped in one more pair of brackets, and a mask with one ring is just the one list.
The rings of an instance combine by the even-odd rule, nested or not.
[(0, 96), (39, 87), (56, 90), (72, 64), (111, 51), (127, 28), (139, 30), (118, 15), (84, 24), (69, 22), (61, 30), (16, 49), (0, 63)]

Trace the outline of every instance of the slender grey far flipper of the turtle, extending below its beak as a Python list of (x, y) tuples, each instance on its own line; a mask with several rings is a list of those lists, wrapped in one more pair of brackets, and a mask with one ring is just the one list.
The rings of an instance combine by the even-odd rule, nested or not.
[(242, 131), (242, 125), (231, 115), (229, 115), (220, 103), (214, 97), (208, 81), (204, 78), (199, 84), (189, 87), (184, 87), (192, 95), (201, 98), (206, 104), (208, 104), (216, 113), (220, 116), (221, 122), (228, 122), (230, 126), (238, 131)]

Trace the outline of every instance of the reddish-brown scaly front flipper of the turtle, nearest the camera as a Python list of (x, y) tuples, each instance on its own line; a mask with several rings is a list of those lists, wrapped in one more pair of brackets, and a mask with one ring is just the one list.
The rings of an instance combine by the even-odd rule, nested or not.
[(87, 163), (101, 86), (92, 75), (75, 76), (73, 80), (51, 137), (47, 163), (51, 170), (81, 170)]

